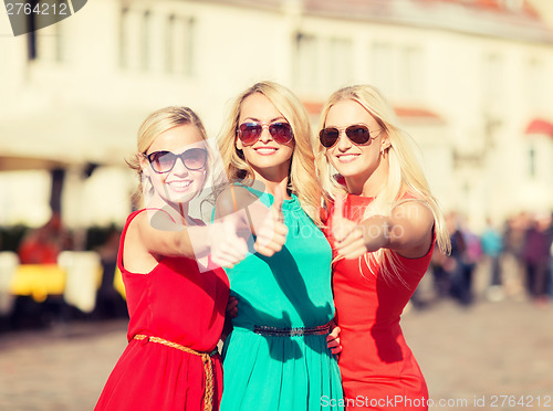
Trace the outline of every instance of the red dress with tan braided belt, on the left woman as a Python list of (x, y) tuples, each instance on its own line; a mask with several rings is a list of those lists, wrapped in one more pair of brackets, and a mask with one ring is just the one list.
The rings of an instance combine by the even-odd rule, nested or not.
[[(212, 351), (221, 335), (229, 282), (222, 268), (200, 273), (195, 260), (164, 257), (148, 274), (123, 266), (122, 233), (117, 265), (125, 283), (129, 314), (128, 346), (112, 371), (95, 410), (204, 410), (206, 373), (200, 356), (164, 344), (134, 339), (163, 338), (197, 351)], [(222, 393), (221, 358), (211, 357), (213, 410)]]

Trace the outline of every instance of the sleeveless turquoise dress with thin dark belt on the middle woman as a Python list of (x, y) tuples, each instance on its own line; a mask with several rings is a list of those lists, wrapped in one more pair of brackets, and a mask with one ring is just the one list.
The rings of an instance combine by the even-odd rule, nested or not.
[[(248, 190), (272, 204), (271, 194)], [(222, 351), (221, 411), (342, 410), (340, 370), (327, 334), (254, 331), (316, 327), (334, 317), (331, 246), (298, 197), (285, 200), (282, 212), (289, 229), (282, 250), (265, 257), (254, 252), (251, 239), (248, 256), (226, 270), (238, 316)]]

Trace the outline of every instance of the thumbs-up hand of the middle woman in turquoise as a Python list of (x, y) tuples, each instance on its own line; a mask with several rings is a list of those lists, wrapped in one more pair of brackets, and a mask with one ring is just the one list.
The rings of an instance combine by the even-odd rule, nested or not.
[(284, 215), (282, 214), (282, 203), (284, 197), (281, 191), (274, 193), (274, 202), (269, 210), (269, 215), (257, 230), (255, 251), (265, 256), (272, 256), (282, 250), (286, 242), (288, 226), (284, 224)]

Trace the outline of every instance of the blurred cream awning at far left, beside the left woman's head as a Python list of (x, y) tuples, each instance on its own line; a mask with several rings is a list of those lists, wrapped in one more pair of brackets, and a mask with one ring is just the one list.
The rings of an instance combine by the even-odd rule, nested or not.
[(0, 116), (0, 171), (121, 166), (136, 149), (142, 113), (88, 107)]

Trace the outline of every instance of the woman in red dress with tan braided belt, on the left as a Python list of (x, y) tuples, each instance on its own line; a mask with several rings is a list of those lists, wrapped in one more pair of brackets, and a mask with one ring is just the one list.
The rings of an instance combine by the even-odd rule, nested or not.
[(247, 245), (227, 223), (205, 226), (188, 214), (211, 158), (204, 126), (189, 108), (163, 108), (138, 131), (138, 154), (129, 165), (142, 178), (147, 208), (128, 217), (117, 256), (128, 346), (97, 411), (219, 409), (222, 369), (216, 346), (229, 283), (218, 266), (240, 261)]

